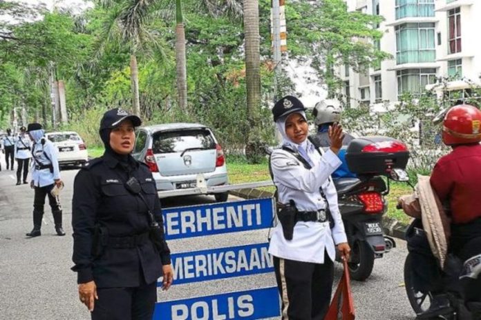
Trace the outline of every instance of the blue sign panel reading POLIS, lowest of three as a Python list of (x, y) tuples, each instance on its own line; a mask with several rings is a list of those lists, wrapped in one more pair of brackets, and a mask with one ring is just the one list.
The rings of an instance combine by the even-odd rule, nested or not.
[(154, 320), (265, 319), (281, 315), (276, 287), (159, 302)]

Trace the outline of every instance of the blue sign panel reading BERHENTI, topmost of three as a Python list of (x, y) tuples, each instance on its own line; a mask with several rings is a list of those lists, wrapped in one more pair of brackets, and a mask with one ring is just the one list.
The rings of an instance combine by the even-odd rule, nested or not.
[(162, 209), (165, 239), (258, 230), (272, 226), (272, 198)]

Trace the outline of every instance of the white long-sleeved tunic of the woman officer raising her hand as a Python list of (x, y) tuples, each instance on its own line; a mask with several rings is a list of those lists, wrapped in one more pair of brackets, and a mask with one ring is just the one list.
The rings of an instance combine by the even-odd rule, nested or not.
[(329, 179), (330, 174), (341, 166), (341, 160), (331, 150), (321, 157), (312, 143), (308, 143), (308, 155), (314, 163), (310, 170), (304, 168), (290, 152), (281, 149), (272, 152), (271, 167), (274, 184), (279, 193), (279, 202), (289, 203), (292, 199), (299, 211), (326, 208), (326, 203), (319, 192), (322, 187), (334, 219), (334, 228), (331, 230), (329, 222), (298, 221), (294, 226), (292, 240), (286, 240), (279, 223), (272, 232), (269, 252), (283, 259), (324, 263), (325, 251), (334, 261), (336, 257), (334, 244), (347, 242), (337, 203), (337, 191), (332, 179)]

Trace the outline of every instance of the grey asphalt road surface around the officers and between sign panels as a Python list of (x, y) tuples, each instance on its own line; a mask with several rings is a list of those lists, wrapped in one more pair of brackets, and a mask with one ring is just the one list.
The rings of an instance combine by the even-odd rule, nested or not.
[[(77, 170), (63, 170), (66, 187), (61, 202), (64, 209), (66, 237), (57, 237), (50, 208), (46, 206), (42, 235), (25, 237), (32, 228), (33, 191), (27, 185), (15, 186), (15, 172), (0, 172), (0, 319), (90, 319), (78, 301), (76, 274), (72, 266), (72, 228), (70, 208), (73, 178)], [(229, 200), (234, 199), (230, 197)], [(213, 197), (182, 197), (162, 201), (164, 206), (189, 206), (214, 202)], [(204, 238), (170, 241), (172, 252), (241, 246), (262, 243), (267, 230), (238, 232)], [(411, 320), (415, 314), (406, 298), (402, 268), (406, 243), (375, 262), (372, 276), (365, 282), (352, 282), (352, 290), (360, 320)], [(341, 265), (336, 265), (337, 278)], [(233, 279), (207, 281), (174, 286), (159, 291), (158, 299), (171, 300), (198, 297), (221, 292), (252, 290), (275, 286), (274, 274), (261, 274)]]

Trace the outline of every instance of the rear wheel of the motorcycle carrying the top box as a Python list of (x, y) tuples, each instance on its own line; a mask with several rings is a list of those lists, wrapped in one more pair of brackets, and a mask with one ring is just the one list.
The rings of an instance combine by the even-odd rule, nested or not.
[(351, 279), (356, 281), (368, 279), (374, 268), (374, 252), (369, 247), (369, 243), (357, 240), (352, 244), (348, 266)]

